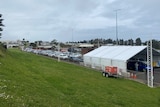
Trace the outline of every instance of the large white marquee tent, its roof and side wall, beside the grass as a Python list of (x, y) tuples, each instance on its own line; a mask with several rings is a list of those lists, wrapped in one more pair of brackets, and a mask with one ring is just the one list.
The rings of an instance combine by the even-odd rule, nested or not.
[[(84, 65), (100, 70), (105, 70), (106, 66), (115, 66), (119, 71), (127, 73), (127, 61), (146, 48), (147, 46), (101, 46), (83, 56)], [(139, 57), (146, 58), (147, 52), (144, 53)]]

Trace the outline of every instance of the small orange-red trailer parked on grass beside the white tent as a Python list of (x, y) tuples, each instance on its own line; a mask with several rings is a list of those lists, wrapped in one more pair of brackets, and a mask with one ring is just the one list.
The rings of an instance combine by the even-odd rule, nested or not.
[(117, 77), (118, 76), (118, 68), (114, 66), (106, 66), (105, 70), (102, 72), (102, 76), (104, 77)]

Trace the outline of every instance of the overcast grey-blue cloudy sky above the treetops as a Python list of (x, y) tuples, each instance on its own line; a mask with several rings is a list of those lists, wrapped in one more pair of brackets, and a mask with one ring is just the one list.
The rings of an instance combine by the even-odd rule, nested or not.
[(160, 40), (160, 0), (0, 0), (1, 40)]

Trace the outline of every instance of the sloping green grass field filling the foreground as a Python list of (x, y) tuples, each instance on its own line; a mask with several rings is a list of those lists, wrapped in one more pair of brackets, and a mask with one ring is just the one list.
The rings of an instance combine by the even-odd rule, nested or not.
[(159, 107), (160, 88), (19, 50), (0, 57), (0, 107)]

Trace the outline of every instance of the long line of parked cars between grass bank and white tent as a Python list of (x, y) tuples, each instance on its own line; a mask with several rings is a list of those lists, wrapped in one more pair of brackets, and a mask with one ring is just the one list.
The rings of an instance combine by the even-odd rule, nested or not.
[(62, 60), (68, 60), (72, 62), (83, 62), (83, 58), (80, 53), (40, 50), (40, 49), (32, 49), (32, 48), (26, 48), (24, 49), (24, 51), (39, 54), (39, 55), (49, 56), (52, 58), (59, 57)]

